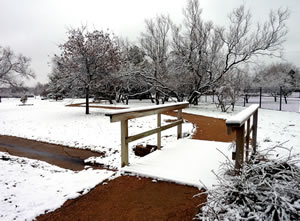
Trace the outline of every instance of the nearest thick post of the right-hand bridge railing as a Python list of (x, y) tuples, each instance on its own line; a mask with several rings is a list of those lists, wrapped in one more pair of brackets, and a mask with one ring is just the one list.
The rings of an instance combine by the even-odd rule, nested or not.
[(235, 169), (241, 169), (244, 162), (244, 139), (245, 139), (245, 124), (241, 127), (236, 127), (236, 156), (235, 156)]

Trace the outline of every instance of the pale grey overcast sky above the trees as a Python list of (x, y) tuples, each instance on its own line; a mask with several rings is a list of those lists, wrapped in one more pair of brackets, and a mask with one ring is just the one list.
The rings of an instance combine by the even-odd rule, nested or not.
[[(227, 15), (243, 3), (256, 21), (265, 20), (270, 9), (290, 9), (284, 57), (300, 67), (300, 0), (200, 0), (204, 19), (218, 25), (225, 25)], [(0, 45), (31, 57), (37, 78), (28, 85), (46, 83), (48, 63), (59, 53), (68, 27), (88, 24), (136, 41), (145, 19), (164, 13), (179, 23), (185, 5), (186, 0), (0, 0)]]

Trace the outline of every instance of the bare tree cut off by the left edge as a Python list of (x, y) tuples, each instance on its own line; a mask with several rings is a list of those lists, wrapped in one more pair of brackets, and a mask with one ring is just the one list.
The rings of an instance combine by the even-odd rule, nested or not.
[(21, 78), (34, 78), (30, 58), (16, 55), (10, 48), (0, 46), (0, 85), (20, 87)]

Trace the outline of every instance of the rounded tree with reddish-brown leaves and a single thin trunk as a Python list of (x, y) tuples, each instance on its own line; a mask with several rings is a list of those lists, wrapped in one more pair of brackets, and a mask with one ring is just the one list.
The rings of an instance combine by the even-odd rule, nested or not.
[(86, 27), (70, 29), (68, 40), (60, 45), (61, 54), (56, 55), (59, 72), (77, 90), (84, 90), (86, 114), (89, 114), (91, 88), (99, 84), (111, 72), (118, 70), (120, 52), (115, 39), (109, 33)]

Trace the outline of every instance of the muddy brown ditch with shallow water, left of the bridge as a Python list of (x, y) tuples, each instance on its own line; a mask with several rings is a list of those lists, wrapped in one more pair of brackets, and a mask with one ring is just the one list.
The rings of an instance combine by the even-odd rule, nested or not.
[(101, 153), (90, 150), (2, 135), (0, 135), (0, 151), (8, 152), (15, 156), (43, 160), (70, 170), (82, 170), (85, 166), (85, 159), (91, 156), (102, 156)]

